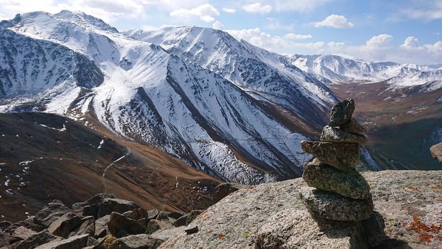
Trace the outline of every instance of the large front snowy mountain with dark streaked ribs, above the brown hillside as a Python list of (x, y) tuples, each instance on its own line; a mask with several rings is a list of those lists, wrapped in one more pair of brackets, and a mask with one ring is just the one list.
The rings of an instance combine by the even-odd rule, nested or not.
[[(32, 67), (36, 73), (31, 75), (37, 75), (36, 80), (25, 80), (26, 85), (17, 80), (17, 87), (4, 88), (2, 112), (42, 110), (80, 121), (95, 117), (122, 137), (162, 149), (225, 181), (257, 184), (300, 176), (301, 165), (309, 159), (299, 147), (306, 137), (299, 133), (314, 134), (313, 129), (305, 122), (291, 122), (284, 108), (259, 101), (220, 75), (118, 33), (97, 18), (70, 11), (33, 12), (2, 22), (1, 32), (2, 44), (18, 37), (14, 48), (6, 46), (9, 51), (23, 51), (5, 52), (3, 59), (15, 56), (1, 69), (24, 72), (21, 78), (26, 79), (26, 68)], [(54, 69), (57, 77), (38, 65), (38, 58), (50, 57), (49, 48), (20, 60), (29, 44), (46, 43), (52, 51), (63, 51), (46, 59), (64, 69)], [(31, 63), (25, 66), (24, 61)], [(13, 68), (20, 63), (23, 66)], [(88, 65), (84, 70), (83, 64)], [(79, 67), (83, 78), (75, 78)], [(50, 77), (57, 80), (45, 85)], [(293, 85), (289, 78), (283, 82)], [(299, 97), (294, 102), (300, 110), (309, 110), (303, 119), (313, 115), (313, 120), (321, 120), (315, 101), (322, 100), (308, 98), (301, 90), (293, 94)], [(274, 87), (274, 92), (281, 91)]]

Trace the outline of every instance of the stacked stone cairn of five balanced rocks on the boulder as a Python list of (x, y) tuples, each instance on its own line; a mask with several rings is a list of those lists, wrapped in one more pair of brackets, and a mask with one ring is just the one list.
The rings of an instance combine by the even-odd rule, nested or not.
[[(367, 141), (352, 113), (352, 99), (338, 102), (323, 128), (320, 142), (302, 141), (302, 149), (315, 157), (303, 165), (301, 199), (313, 217), (331, 221), (367, 220), (373, 213), (370, 186), (355, 170), (359, 164), (359, 145)], [(382, 218), (381, 218), (382, 219)]]

